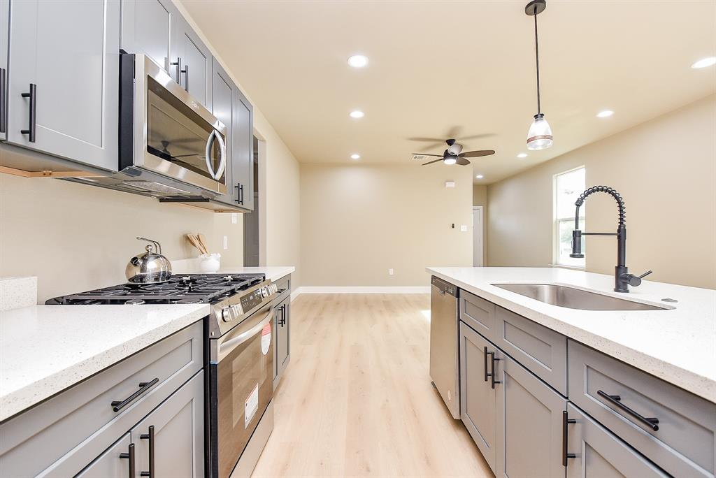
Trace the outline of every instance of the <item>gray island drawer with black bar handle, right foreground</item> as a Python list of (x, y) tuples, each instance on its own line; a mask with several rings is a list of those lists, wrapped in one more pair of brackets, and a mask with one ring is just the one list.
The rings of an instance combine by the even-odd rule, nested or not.
[(571, 340), (569, 398), (669, 474), (714, 476), (716, 404)]

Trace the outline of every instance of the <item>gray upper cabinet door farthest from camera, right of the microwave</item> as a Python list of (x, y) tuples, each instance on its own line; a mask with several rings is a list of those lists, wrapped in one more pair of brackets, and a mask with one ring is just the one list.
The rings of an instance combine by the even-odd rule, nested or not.
[(233, 121), (233, 185), (238, 205), (253, 210), (253, 107), (236, 89)]

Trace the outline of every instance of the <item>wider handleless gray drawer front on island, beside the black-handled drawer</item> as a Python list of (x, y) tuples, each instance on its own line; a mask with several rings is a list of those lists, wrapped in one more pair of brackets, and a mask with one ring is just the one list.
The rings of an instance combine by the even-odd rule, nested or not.
[(498, 306), (493, 342), (567, 396), (567, 338), (561, 333)]

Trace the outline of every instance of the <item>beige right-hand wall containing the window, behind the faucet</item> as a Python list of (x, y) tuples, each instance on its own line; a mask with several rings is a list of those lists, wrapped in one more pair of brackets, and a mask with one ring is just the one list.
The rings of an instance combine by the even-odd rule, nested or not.
[[(716, 96), (488, 186), (488, 265), (552, 262), (553, 175), (580, 165), (587, 187), (624, 197), (630, 271), (716, 288)], [(586, 205), (587, 230), (615, 230), (611, 197), (592, 195)], [(586, 248), (587, 270), (614, 273), (614, 238), (587, 238)]]

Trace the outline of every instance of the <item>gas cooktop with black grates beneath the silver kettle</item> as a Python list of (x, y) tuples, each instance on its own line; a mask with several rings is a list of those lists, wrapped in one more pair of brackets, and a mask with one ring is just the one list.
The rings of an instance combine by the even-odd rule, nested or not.
[(122, 284), (49, 299), (47, 305), (218, 303), (263, 282), (263, 274), (177, 274), (160, 284)]

